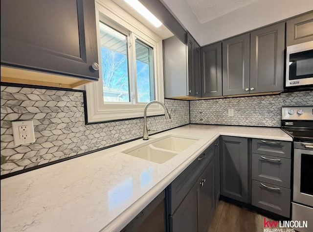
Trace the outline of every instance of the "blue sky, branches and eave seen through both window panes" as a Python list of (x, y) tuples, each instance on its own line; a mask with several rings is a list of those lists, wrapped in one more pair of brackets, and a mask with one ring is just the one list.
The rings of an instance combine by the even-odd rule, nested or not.
[[(104, 102), (130, 102), (127, 36), (100, 22)], [(135, 41), (137, 101), (154, 99), (153, 48)], [(133, 80), (134, 81), (134, 80)], [(132, 90), (134, 92), (134, 90)]]

